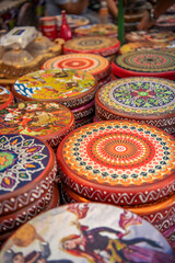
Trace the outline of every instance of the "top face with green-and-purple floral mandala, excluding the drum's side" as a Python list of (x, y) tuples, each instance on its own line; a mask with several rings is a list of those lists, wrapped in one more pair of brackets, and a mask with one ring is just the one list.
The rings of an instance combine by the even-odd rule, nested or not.
[(163, 115), (175, 113), (175, 84), (156, 78), (127, 78), (101, 88), (96, 102), (125, 114)]

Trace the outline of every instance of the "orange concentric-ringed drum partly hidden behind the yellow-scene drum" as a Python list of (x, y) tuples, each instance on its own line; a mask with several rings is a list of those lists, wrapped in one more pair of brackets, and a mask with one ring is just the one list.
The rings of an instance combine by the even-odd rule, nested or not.
[(92, 73), (97, 80), (109, 73), (109, 61), (93, 54), (69, 54), (50, 58), (43, 65), (43, 69), (78, 69)]

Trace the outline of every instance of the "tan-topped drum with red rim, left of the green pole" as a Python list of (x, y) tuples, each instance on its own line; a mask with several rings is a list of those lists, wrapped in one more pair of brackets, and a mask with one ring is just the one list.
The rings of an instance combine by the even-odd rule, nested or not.
[(120, 46), (116, 37), (106, 36), (82, 36), (67, 41), (63, 53), (91, 53), (101, 56), (110, 56), (118, 52)]

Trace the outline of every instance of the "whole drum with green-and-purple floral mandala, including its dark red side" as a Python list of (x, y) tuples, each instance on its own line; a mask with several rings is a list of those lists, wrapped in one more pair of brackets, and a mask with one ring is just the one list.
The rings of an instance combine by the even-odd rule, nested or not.
[(175, 133), (175, 83), (161, 78), (122, 78), (103, 85), (95, 95), (98, 121), (127, 119)]

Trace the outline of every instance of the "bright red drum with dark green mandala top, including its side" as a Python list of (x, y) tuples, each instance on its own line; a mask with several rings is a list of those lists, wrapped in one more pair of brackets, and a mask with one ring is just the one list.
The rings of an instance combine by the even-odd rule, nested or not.
[(125, 77), (159, 77), (175, 79), (175, 54), (161, 50), (131, 52), (112, 62), (114, 75)]

